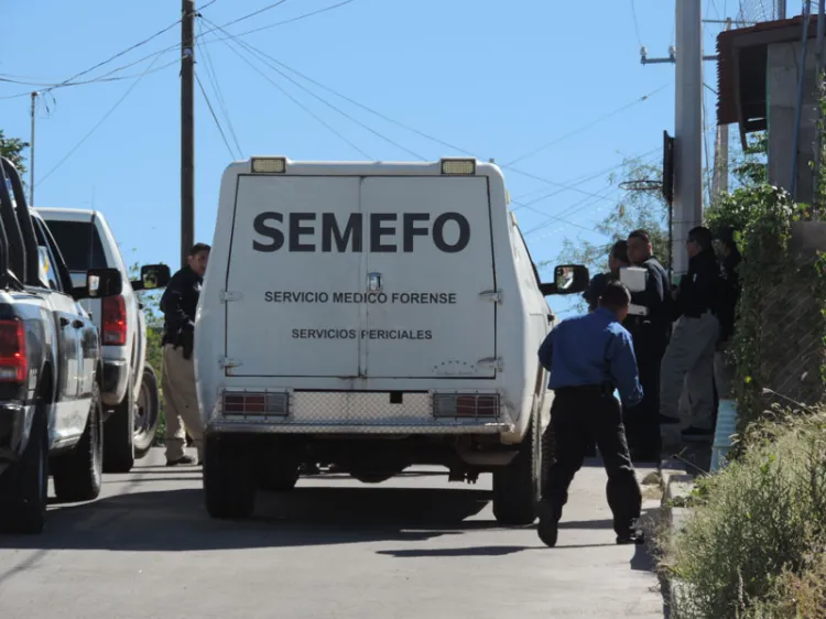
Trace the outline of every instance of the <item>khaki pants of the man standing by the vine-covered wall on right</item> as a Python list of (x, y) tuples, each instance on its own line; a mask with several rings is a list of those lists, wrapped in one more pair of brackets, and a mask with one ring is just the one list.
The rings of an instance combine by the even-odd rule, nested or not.
[[(699, 318), (680, 318), (663, 357), (660, 413), (684, 417), (686, 425), (714, 426), (714, 354), (720, 323), (706, 312)], [(687, 387), (691, 412), (681, 415), (680, 397)]]

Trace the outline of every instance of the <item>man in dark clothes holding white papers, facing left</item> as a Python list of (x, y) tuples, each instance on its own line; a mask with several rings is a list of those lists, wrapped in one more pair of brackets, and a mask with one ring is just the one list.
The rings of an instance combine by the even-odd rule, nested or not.
[[(628, 257), (648, 271), (645, 290), (631, 294), (631, 303), (648, 308), (646, 316), (629, 317), (644, 398), (634, 409), (624, 411), (631, 455), (637, 461), (660, 461), (660, 367), (669, 345), (672, 300), (669, 274), (653, 256), (651, 237), (645, 230), (628, 236)], [(667, 420), (666, 420), (667, 421)]]

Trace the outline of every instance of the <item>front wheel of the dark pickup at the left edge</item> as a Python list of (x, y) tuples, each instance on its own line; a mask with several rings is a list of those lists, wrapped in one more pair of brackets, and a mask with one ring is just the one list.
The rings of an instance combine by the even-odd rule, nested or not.
[(54, 492), (61, 502), (91, 501), (100, 495), (104, 478), (104, 408), (100, 385), (91, 392), (86, 430), (75, 448), (52, 461)]

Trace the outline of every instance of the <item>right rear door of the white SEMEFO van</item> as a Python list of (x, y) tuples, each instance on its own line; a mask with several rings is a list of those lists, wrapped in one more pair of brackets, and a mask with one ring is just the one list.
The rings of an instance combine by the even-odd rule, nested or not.
[[(368, 176), (367, 378), (494, 378), (496, 272), (487, 176)], [(506, 214), (502, 211), (501, 217)]]

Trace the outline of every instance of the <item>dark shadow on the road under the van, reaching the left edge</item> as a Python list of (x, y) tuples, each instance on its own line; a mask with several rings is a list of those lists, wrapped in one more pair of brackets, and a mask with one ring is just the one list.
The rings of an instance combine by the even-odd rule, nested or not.
[(134, 492), (48, 512), (39, 536), (0, 536), (0, 549), (202, 551), (415, 542), (497, 526), (469, 521), (483, 490), (296, 488), (260, 492), (251, 519), (213, 520), (200, 489)]

